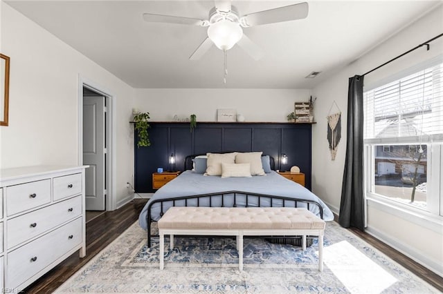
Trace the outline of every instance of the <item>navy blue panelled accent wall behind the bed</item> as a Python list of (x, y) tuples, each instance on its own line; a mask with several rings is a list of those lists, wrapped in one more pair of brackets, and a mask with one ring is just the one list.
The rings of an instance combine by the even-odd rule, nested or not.
[[(135, 189), (152, 193), (152, 173), (162, 167), (169, 170), (171, 153), (176, 170), (184, 169), (188, 155), (222, 151), (263, 151), (275, 159), (275, 169), (289, 170), (300, 166), (305, 186), (311, 188), (311, 125), (266, 123), (197, 123), (190, 133), (189, 123), (152, 122), (148, 130), (150, 147), (135, 147)], [(137, 134), (135, 134), (137, 135)], [(137, 137), (135, 137), (137, 141)], [(288, 164), (280, 166), (282, 154)]]

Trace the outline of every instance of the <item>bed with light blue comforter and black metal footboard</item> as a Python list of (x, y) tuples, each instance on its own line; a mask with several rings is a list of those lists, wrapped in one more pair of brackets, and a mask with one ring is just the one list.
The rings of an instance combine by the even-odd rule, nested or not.
[[(207, 176), (192, 170), (195, 157), (186, 157), (187, 170), (157, 190), (141, 211), (138, 222), (147, 231), (148, 246), (151, 223), (172, 206), (305, 207), (325, 221), (334, 219), (332, 211), (314, 193), (274, 170), (253, 177)], [(273, 159), (269, 158), (273, 166)]]

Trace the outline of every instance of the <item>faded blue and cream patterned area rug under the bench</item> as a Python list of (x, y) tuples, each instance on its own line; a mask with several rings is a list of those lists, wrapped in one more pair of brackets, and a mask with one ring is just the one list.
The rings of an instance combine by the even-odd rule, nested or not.
[(244, 239), (244, 271), (233, 238), (159, 240), (133, 224), (66, 281), (56, 293), (440, 293), (359, 237), (328, 222), (323, 272), (318, 243), (300, 247)]

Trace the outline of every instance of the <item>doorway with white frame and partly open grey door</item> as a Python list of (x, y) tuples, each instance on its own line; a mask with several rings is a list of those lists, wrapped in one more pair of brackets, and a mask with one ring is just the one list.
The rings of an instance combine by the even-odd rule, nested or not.
[[(85, 172), (86, 210), (91, 215), (116, 209), (114, 95), (80, 77), (78, 162)], [(93, 213), (92, 213), (93, 212)]]

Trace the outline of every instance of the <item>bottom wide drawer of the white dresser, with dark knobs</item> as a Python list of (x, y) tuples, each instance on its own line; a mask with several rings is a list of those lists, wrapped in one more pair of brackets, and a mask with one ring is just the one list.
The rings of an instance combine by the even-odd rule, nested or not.
[(6, 288), (20, 286), (81, 242), (82, 218), (80, 217), (8, 253)]

